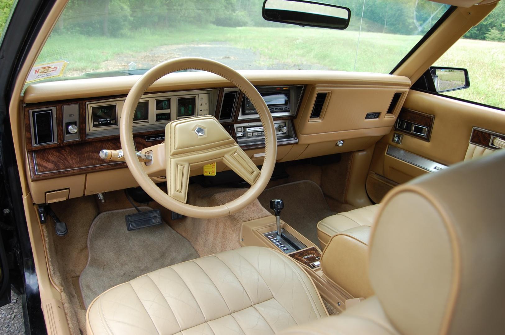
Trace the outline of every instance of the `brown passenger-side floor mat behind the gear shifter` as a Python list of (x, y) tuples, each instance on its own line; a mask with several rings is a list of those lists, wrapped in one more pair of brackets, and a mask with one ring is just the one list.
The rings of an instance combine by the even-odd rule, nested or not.
[(295, 181), (264, 190), (258, 200), (270, 209), (270, 200), (276, 198), (284, 200), (281, 220), (319, 246), (317, 223), (336, 214), (326, 203), (321, 187), (309, 180)]

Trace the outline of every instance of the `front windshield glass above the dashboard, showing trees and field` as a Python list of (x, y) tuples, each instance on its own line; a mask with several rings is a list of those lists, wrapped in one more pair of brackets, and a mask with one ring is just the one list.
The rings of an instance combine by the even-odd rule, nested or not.
[(449, 8), (427, 0), (335, 0), (346, 30), (265, 21), (263, 0), (70, 0), (27, 83), (142, 74), (171, 58), (235, 70), (389, 73)]

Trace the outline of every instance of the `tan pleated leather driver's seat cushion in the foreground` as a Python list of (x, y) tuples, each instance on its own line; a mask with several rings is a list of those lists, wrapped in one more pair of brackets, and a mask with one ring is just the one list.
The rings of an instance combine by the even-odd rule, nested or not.
[(327, 316), (294, 260), (244, 247), (165, 267), (98, 296), (88, 334), (278, 332)]

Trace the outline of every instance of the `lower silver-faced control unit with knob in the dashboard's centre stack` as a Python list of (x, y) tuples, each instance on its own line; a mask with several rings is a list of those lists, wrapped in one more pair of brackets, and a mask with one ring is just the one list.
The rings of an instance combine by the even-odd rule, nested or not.
[[(274, 121), (277, 143), (296, 141), (291, 120)], [(265, 144), (265, 130), (261, 122), (235, 124), (237, 143), (240, 146)]]

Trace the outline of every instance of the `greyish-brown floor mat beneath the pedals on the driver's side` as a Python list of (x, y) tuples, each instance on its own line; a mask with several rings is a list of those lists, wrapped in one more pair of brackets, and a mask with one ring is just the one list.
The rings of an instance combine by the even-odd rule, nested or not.
[(111, 287), (199, 257), (188, 240), (165, 223), (127, 231), (124, 217), (133, 213), (134, 209), (104, 212), (93, 220), (88, 235), (88, 263), (79, 277), (86, 307)]

